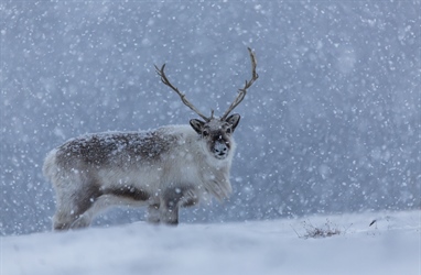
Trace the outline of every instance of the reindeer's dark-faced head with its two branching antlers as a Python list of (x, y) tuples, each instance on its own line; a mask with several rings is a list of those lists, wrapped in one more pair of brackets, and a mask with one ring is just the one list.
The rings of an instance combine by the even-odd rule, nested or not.
[(207, 150), (213, 154), (213, 156), (217, 160), (225, 160), (233, 146), (231, 134), (234, 130), (237, 128), (238, 122), (240, 121), (240, 116), (238, 113), (228, 114), (236, 108), (245, 98), (247, 94), (247, 89), (258, 79), (259, 75), (256, 73), (256, 56), (251, 48), (248, 48), (250, 58), (251, 58), (251, 79), (246, 80), (246, 85), (244, 88), (239, 89), (237, 98), (234, 102), (228, 107), (228, 110), (220, 118), (214, 118), (214, 111), (212, 111), (210, 117), (206, 117), (202, 114), (186, 98), (185, 95), (182, 94), (175, 86), (173, 86), (168, 79), (164, 69), (165, 64), (162, 65), (161, 68), (156, 67), (158, 75), (161, 76), (161, 80), (163, 84), (173, 89), (181, 98), (183, 103), (196, 112), (203, 120), (192, 119), (190, 124), (201, 135), (201, 138), (206, 141)]

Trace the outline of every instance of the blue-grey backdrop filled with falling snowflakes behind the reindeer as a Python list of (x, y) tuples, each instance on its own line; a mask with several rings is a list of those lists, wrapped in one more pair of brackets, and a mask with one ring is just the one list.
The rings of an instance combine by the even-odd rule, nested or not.
[[(51, 229), (67, 139), (236, 109), (233, 197), (182, 222), (420, 209), (420, 1), (2, 1), (1, 234)], [(110, 226), (141, 220), (119, 209)]]

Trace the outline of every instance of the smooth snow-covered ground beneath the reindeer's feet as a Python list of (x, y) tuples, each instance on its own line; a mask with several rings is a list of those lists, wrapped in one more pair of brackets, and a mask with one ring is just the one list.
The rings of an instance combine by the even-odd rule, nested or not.
[[(316, 229), (338, 234), (309, 237)], [(137, 222), (3, 237), (1, 275), (415, 275), (421, 274), (420, 237), (420, 211), (177, 228)]]

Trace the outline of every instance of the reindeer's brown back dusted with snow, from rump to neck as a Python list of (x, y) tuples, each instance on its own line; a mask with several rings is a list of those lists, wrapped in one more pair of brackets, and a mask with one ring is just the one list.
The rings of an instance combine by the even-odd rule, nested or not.
[(140, 132), (86, 134), (51, 151), (45, 158), (43, 172), (51, 179), (57, 170), (91, 167), (123, 169), (133, 165), (156, 163), (194, 134), (188, 125), (169, 125)]

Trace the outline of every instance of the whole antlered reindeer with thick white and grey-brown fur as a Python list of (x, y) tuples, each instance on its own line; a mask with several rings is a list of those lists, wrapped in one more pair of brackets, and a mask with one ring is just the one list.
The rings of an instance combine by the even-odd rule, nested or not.
[[(166, 125), (144, 132), (86, 134), (51, 151), (43, 173), (56, 191), (54, 230), (86, 228), (93, 218), (111, 206), (148, 207), (151, 223), (177, 224), (180, 207), (201, 200), (228, 198), (229, 169), (236, 144), (233, 133), (240, 116), (229, 113), (258, 79), (256, 57), (251, 79), (220, 117), (202, 114), (165, 75), (164, 85), (203, 120), (190, 125)], [(229, 116), (229, 117), (228, 117)]]

